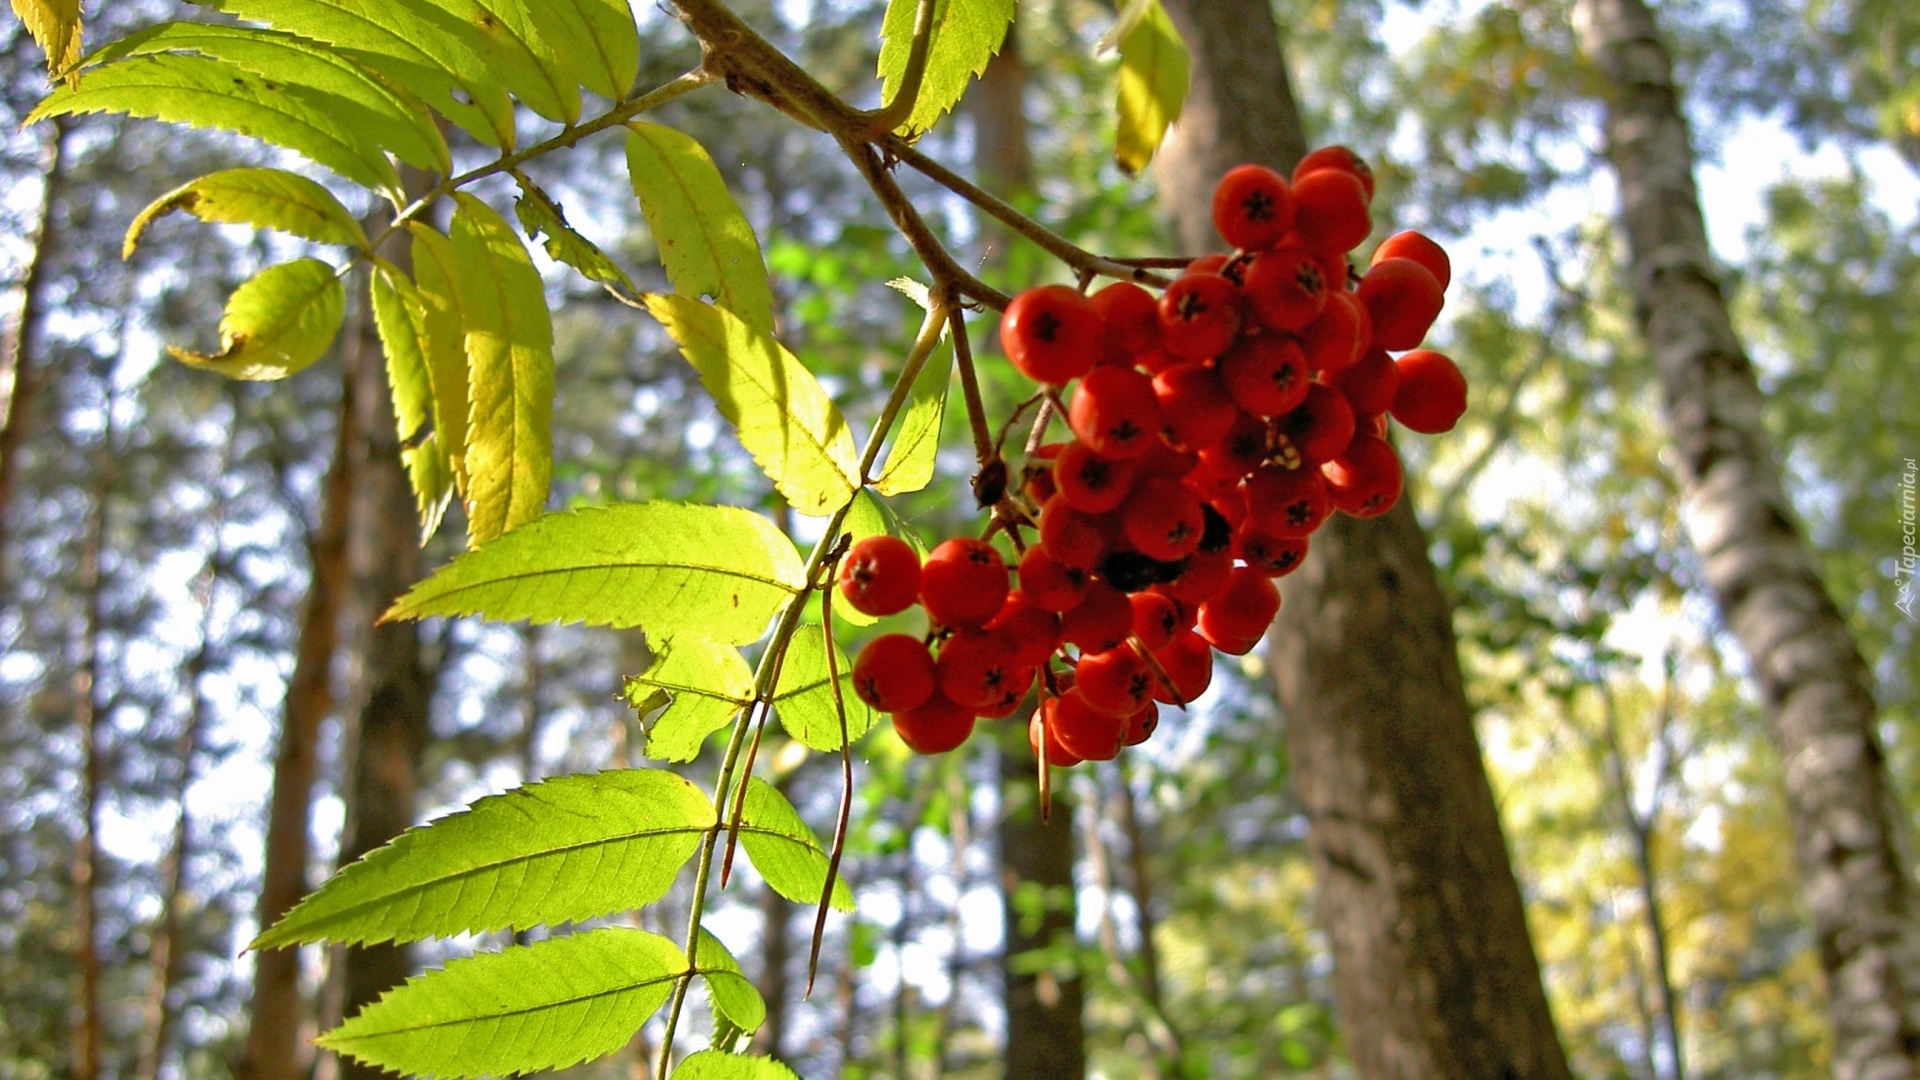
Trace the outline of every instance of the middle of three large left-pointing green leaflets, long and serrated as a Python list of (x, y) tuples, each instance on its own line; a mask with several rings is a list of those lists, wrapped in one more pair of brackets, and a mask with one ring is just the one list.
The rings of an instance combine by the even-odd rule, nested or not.
[(674, 773), (528, 784), (409, 828), (334, 874), (252, 947), (417, 942), (645, 907), (666, 896), (714, 821), (707, 794)]

